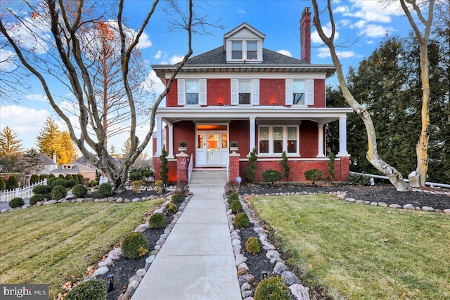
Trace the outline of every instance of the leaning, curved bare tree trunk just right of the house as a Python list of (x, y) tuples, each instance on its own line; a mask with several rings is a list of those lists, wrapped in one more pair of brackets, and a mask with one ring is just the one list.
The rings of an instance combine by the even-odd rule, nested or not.
[(336, 74), (338, 75), (338, 81), (340, 85), (340, 89), (342, 91), (342, 95), (344, 96), (347, 103), (350, 107), (353, 108), (354, 112), (361, 117), (364, 122), (364, 126), (366, 126), (366, 134), (368, 139), (368, 150), (366, 152), (366, 158), (369, 162), (378, 169), (382, 174), (385, 174), (387, 178), (389, 178), (390, 182), (395, 186), (395, 188), (399, 191), (411, 190), (409, 185), (403, 180), (403, 176), (397, 169), (392, 167), (390, 164), (387, 164), (381, 157), (378, 155), (378, 145), (377, 145), (377, 137), (375, 133), (375, 127), (373, 126), (372, 118), (366, 107), (361, 105), (361, 103), (356, 100), (351, 91), (347, 86), (347, 81), (345, 80), (344, 72), (342, 72), (342, 65), (338, 58), (338, 54), (335, 49), (335, 21), (333, 18), (333, 10), (331, 8), (331, 1), (327, 0), (327, 11), (328, 16), (330, 18), (331, 24), (331, 33), (328, 37), (325, 32), (323, 32), (322, 24), (321, 24), (321, 16), (319, 12), (319, 6), (316, 0), (312, 0), (312, 5), (314, 7), (314, 18), (313, 23), (316, 27), (317, 33), (319, 37), (323, 41), (326, 46), (330, 49), (331, 59), (333, 60), (333, 65), (335, 65)]

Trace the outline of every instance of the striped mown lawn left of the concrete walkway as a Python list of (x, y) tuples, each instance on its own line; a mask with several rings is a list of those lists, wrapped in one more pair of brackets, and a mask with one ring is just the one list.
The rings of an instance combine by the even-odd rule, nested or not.
[(46, 283), (53, 299), (160, 202), (56, 204), (0, 214), (0, 282)]

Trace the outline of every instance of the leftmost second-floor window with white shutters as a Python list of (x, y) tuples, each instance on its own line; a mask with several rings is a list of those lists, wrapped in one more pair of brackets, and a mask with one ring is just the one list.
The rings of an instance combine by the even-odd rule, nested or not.
[(206, 79), (177, 79), (178, 105), (206, 105)]

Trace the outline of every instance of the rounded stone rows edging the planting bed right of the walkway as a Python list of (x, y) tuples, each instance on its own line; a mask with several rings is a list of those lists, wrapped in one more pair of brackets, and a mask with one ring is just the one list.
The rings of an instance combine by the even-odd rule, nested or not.
[[(240, 245), (240, 230), (234, 228), (234, 215), (230, 209), (228, 200), (229, 197), (224, 195), (226, 216), (231, 233), (231, 244), (233, 245), (240, 293), (243, 300), (254, 300), (250, 282), (255, 280), (255, 275), (248, 273), (249, 268), (247, 266), (247, 263), (245, 263), (245, 261), (247, 261), (247, 258), (244, 256), (243, 251), (241, 253), (242, 247)], [(297, 275), (295, 275), (293, 272), (290, 272), (288, 270), (288, 267), (285, 266), (285, 263), (281, 259), (279, 252), (276, 251), (276, 247), (274, 246), (274, 244), (271, 244), (271, 242), (267, 240), (267, 234), (265, 233), (264, 228), (262, 228), (259, 225), (258, 221), (253, 218), (250, 208), (248, 207), (247, 203), (243, 201), (243, 197), (241, 197), (240, 195), (239, 201), (240, 204), (242, 204), (243, 211), (245, 212), (245, 214), (247, 214), (248, 219), (250, 219), (250, 224), (253, 225), (253, 230), (255, 230), (255, 233), (258, 234), (259, 240), (261, 240), (262, 242), (263, 249), (266, 250), (266, 257), (270, 259), (271, 263), (274, 264), (274, 269), (271, 273), (268, 273), (268, 275), (280, 275), (281, 278), (283, 278), (285, 284), (288, 285), (290, 293), (295, 296), (297, 300), (310, 300), (308, 293), (309, 288), (300, 285), (300, 280), (297, 278)]]

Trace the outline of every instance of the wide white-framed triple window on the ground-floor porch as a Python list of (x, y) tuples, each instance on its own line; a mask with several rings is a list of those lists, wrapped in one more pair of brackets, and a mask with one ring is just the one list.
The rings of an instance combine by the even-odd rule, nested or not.
[(260, 125), (258, 127), (260, 154), (281, 155), (298, 153), (299, 127), (297, 125)]

